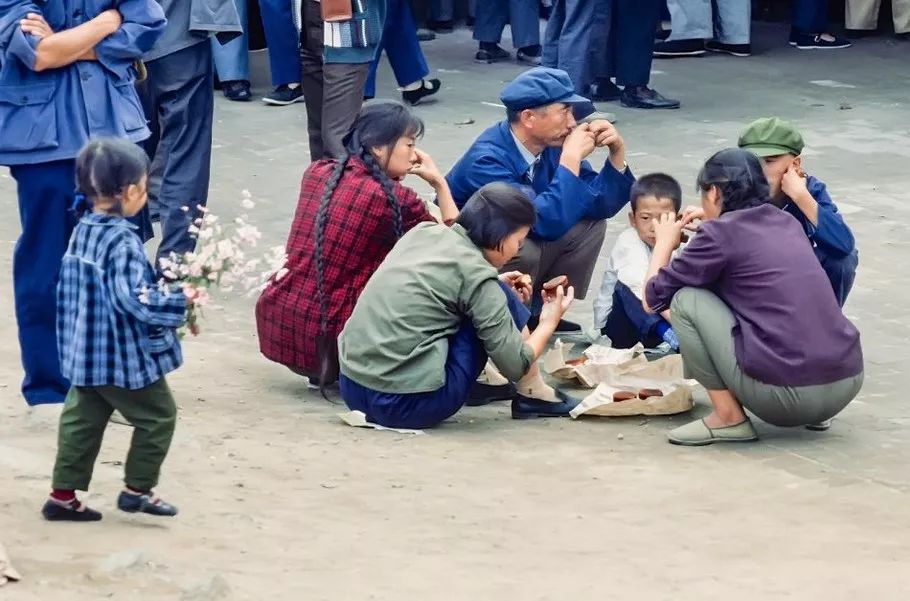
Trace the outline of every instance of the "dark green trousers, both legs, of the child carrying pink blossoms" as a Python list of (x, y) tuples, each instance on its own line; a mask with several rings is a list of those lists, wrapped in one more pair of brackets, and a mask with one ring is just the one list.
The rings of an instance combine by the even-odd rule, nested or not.
[(134, 428), (126, 457), (126, 485), (149, 491), (158, 484), (177, 423), (177, 404), (164, 378), (138, 390), (73, 386), (60, 415), (53, 488), (88, 490), (104, 430), (115, 409)]

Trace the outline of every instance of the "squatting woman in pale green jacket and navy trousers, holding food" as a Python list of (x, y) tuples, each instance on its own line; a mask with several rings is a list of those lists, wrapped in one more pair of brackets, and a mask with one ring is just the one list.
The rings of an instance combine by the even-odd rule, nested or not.
[(530, 278), (498, 274), (536, 220), (521, 191), (488, 184), (455, 224), (408, 232), (367, 283), (338, 341), (341, 396), (373, 423), (428, 428), (465, 404), (487, 358), (520, 394), (512, 417), (565, 416), (577, 404), (537, 368), (574, 290), (544, 295), (530, 334)]

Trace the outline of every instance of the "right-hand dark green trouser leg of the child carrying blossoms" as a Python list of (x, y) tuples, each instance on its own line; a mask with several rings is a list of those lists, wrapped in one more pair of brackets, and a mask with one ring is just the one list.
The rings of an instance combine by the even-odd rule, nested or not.
[(158, 484), (177, 424), (177, 404), (167, 381), (161, 378), (139, 390), (114, 386), (96, 390), (133, 426), (125, 484), (135, 491), (150, 492)]

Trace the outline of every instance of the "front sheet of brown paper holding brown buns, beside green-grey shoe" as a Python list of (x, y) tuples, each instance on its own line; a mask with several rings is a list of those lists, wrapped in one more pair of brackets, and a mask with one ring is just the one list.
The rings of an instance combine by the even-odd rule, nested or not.
[[(572, 410), (573, 418), (581, 415), (672, 415), (689, 411), (694, 406), (694, 383), (683, 378), (679, 355), (612, 367), (613, 370), (603, 372), (605, 377), (594, 392)], [(617, 392), (639, 395), (642, 390), (659, 390), (662, 396), (614, 400)]]

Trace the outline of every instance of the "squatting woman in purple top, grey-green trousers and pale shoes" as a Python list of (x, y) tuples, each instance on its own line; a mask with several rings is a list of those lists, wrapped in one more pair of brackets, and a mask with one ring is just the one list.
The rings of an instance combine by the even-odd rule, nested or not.
[[(859, 393), (859, 332), (844, 317), (799, 222), (770, 204), (752, 153), (723, 150), (698, 175), (702, 208), (664, 215), (645, 278), (645, 308), (679, 337), (686, 377), (714, 411), (670, 442), (745, 442), (758, 435), (743, 408), (777, 426), (827, 429)], [(685, 224), (704, 222), (672, 261)], [(773, 234), (771, 234), (773, 232)]]

